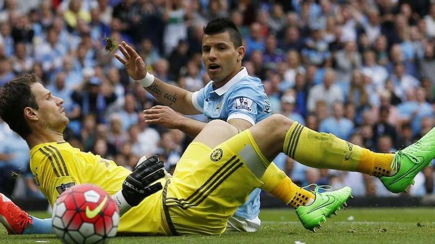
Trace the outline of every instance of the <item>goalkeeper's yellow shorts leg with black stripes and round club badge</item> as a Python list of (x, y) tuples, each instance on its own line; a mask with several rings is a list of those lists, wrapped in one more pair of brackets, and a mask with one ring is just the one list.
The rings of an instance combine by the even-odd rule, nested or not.
[(261, 186), (260, 177), (248, 166), (262, 163), (249, 149), (252, 139), (247, 134), (238, 134), (199, 156), (190, 171), (174, 174), (165, 204), (179, 233), (221, 234), (228, 217)]

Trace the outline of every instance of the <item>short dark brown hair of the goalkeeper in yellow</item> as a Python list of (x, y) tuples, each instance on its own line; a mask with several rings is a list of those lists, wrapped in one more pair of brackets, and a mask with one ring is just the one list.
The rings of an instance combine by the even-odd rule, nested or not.
[(10, 80), (0, 90), (0, 117), (23, 139), (32, 133), (24, 119), (24, 108), (39, 108), (30, 89), (30, 86), (38, 81), (36, 74), (27, 74)]

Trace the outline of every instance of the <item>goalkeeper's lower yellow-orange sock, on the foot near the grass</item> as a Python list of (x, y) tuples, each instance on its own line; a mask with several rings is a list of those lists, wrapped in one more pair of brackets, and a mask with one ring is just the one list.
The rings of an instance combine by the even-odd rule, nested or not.
[(262, 190), (269, 192), (295, 209), (300, 205), (307, 205), (315, 197), (313, 193), (293, 183), (273, 162), (267, 167), (261, 181), (264, 183), (261, 186)]

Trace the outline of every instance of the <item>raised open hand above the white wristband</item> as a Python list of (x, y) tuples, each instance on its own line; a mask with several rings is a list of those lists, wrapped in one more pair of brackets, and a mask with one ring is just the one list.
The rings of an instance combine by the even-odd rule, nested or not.
[(125, 59), (118, 54), (115, 54), (115, 57), (124, 64), (130, 77), (135, 80), (143, 79), (146, 75), (146, 66), (139, 54), (125, 41), (121, 42), (118, 48)]

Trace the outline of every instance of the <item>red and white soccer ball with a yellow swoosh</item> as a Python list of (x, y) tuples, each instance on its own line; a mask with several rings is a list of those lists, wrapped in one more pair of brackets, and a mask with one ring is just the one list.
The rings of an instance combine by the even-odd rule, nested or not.
[(118, 230), (119, 210), (103, 189), (83, 184), (59, 196), (51, 221), (54, 233), (64, 243), (107, 243)]

